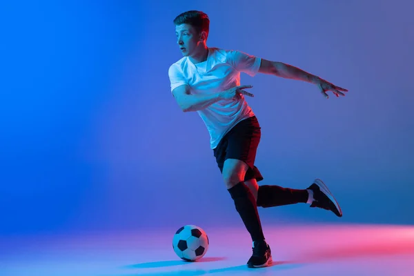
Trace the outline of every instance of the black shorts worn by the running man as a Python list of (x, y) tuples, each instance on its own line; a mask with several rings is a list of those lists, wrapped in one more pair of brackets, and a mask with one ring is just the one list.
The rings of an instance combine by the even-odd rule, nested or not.
[(255, 166), (256, 151), (261, 134), (259, 121), (255, 116), (239, 121), (213, 149), (220, 171), (223, 172), (226, 159), (238, 159), (248, 165), (244, 181), (249, 179), (262, 181), (262, 174)]

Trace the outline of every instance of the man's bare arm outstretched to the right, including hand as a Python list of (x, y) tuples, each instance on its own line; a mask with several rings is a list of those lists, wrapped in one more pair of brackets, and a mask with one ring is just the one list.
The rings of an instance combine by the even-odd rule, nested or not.
[(319, 90), (321, 90), (321, 93), (324, 95), (324, 97), (326, 97), (326, 99), (329, 97), (328, 94), (326, 94), (327, 91), (332, 91), (337, 97), (339, 97), (339, 95), (345, 96), (343, 92), (348, 92), (348, 90), (339, 86), (335, 86), (333, 83), (312, 75), (302, 69), (278, 61), (269, 61), (262, 59), (259, 72), (262, 74), (283, 77), (285, 79), (296, 79), (299, 81), (314, 83), (318, 86)]

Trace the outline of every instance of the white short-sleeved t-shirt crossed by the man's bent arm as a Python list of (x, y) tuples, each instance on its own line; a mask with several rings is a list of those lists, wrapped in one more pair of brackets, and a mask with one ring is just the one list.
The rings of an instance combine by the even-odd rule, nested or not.
[[(240, 85), (240, 72), (254, 76), (261, 59), (236, 50), (208, 48), (207, 60), (194, 64), (188, 57), (173, 63), (168, 69), (171, 92), (188, 85), (191, 94), (208, 95)], [(204, 110), (197, 110), (210, 133), (210, 147), (215, 148), (221, 138), (239, 121), (255, 114), (241, 95), (239, 99), (220, 100)]]

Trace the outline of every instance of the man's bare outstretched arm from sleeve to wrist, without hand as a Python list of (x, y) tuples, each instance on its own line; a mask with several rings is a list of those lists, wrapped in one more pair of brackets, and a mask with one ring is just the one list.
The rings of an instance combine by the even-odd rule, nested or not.
[(278, 61), (268, 61), (262, 59), (260, 64), (259, 72), (268, 75), (275, 75), (277, 77), (283, 77), (285, 79), (296, 79), (299, 81), (307, 81), (309, 83), (319, 83), (322, 79), (312, 75), (308, 72), (305, 72), (302, 69), (296, 68), (286, 63)]

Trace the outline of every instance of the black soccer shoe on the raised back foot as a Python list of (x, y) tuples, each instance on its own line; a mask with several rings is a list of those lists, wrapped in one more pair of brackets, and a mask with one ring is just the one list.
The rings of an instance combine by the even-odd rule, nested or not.
[(338, 217), (342, 217), (342, 210), (339, 207), (338, 201), (329, 191), (328, 187), (324, 184), (324, 181), (317, 178), (308, 190), (313, 190), (313, 203), (311, 207), (323, 208), (325, 210), (331, 210)]

